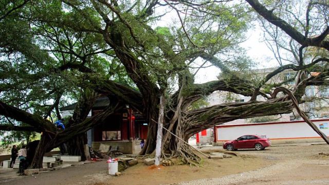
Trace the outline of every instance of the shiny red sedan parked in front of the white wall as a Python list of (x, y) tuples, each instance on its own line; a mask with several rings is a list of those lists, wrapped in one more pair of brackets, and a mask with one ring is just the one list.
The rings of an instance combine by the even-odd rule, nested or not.
[(229, 151), (236, 149), (256, 149), (264, 150), (266, 147), (271, 145), (271, 141), (267, 138), (262, 138), (257, 135), (246, 135), (241, 136), (235, 140), (226, 141), (223, 144), (223, 148)]

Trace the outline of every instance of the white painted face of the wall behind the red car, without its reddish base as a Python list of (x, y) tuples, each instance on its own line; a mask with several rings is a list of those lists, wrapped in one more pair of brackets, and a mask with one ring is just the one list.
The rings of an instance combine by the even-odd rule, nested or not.
[[(314, 121), (319, 128), (319, 125), (326, 123), (329, 127), (329, 120)], [(233, 140), (243, 135), (256, 134), (266, 135), (270, 139), (302, 139), (320, 137), (312, 130), (306, 122), (289, 122), (276, 124), (256, 124), (242, 126), (217, 127), (217, 141)], [(321, 132), (329, 136), (329, 128), (321, 128)]]

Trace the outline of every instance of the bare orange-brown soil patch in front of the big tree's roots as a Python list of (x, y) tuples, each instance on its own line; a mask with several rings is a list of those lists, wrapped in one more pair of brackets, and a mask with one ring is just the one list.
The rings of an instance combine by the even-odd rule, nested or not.
[[(232, 157), (225, 159), (204, 159), (203, 167), (189, 165), (173, 165), (160, 169), (144, 164), (137, 164), (104, 184), (168, 184), (199, 178), (222, 177), (228, 174), (241, 173), (245, 170), (254, 170), (265, 165), (267, 161), (261, 158)], [(152, 183), (151, 183), (152, 182)]]

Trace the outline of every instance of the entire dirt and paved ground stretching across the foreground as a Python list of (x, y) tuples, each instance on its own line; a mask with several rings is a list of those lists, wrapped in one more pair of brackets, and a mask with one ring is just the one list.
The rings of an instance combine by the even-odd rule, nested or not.
[[(211, 151), (209, 151), (211, 150)], [(203, 149), (215, 152), (220, 149)], [(138, 163), (121, 176), (107, 175), (105, 161), (15, 179), (1, 184), (329, 184), (329, 145), (271, 146), (239, 150), (238, 156), (204, 159), (203, 167), (173, 165), (160, 169)], [(1, 177), (2, 174), (0, 174)]]

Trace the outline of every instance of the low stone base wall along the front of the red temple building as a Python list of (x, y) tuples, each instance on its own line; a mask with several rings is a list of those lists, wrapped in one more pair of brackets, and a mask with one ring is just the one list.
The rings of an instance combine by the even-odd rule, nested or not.
[[(141, 151), (140, 148), (140, 140), (134, 141), (100, 141), (100, 142), (92, 142), (92, 147), (94, 150), (99, 149), (99, 145), (107, 144), (112, 147), (118, 147), (118, 150), (124, 154), (138, 154)], [(112, 149), (111, 149), (112, 150)]]

